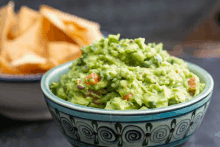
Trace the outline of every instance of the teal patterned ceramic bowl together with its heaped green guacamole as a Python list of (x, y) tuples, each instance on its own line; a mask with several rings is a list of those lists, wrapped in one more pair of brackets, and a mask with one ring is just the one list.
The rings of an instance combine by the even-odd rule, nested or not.
[(209, 106), (213, 79), (163, 44), (109, 35), (82, 57), (48, 71), (41, 89), (51, 115), (77, 146), (175, 146)]

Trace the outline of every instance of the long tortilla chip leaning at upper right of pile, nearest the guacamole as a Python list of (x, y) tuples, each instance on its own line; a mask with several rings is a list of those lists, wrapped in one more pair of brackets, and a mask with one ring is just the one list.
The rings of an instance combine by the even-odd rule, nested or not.
[(41, 6), (40, 12), (53, 25), (79, 44), (80, 47), (91, 44), (95, 39), (102, 38), (100, 26), (97, 23), (48, 6)]

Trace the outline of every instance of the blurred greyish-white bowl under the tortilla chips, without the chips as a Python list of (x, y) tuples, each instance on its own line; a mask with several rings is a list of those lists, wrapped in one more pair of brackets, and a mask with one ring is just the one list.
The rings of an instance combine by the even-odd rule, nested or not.
[(50, 120), (40, 88), (42, 74), (0, 75), (0, 113), (19, 120)]

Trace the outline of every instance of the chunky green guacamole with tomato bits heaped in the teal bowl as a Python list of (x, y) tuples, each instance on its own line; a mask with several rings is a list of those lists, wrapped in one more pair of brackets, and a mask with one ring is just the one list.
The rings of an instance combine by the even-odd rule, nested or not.
[(70, 71), (50, 84), (52, 93), (88, 107), (139, 110), (182, 103), (204, 90), (205, 84), (162, 43), (119, 37), (109, 35), (82, 47)]

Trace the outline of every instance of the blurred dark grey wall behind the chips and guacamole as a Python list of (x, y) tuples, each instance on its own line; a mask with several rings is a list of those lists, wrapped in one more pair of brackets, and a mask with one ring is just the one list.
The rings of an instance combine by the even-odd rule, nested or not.
[[(14, 0), (38, 10), (42, 4), (100, 23), (101, 30), (147, 41), (220, 40), (220, 0)], [(0, 0), (0, 6), (8, 0)], [(176, 43), (176, 44), (178, 44)], [(172, 44), (173, 45), (173, 44)]]

